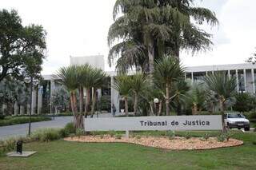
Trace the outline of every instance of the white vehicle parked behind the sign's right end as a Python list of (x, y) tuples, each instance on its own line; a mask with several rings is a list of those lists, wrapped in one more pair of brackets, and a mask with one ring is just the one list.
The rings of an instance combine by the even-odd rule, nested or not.
[(226, 113), (224, 116), (224, 121), (228, 128), (244, 128), (245, 131), (250, 130), (250, 121), (246, 119), (242, 113)]

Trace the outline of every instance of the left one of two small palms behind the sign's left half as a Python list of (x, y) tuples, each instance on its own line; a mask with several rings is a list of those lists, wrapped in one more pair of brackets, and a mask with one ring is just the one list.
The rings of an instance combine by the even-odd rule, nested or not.
[(130, 95), (130, 76), (126, 74), (120, 74), (115, 77), (114, 81), (114, 89), (118, 90), (119, 94), (125, 101), (125, 113), (126, 117), (128, 117), (128, 97)]

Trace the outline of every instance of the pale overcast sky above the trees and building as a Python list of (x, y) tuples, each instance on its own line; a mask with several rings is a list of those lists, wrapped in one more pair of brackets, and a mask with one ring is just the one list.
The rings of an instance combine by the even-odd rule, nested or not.
[[(0, 0), (0, 8), (18, 10), (23, 25), (35, 23), (47, 31), (47, 59), (42, 74), (69, 65), (70, 56), (103, 54), (113, 22), (115, 0)], [(204, 26), (213, 34), (214, 46), (206, 53), (182, 53), (182, 63), (219, 65), (243, 63), (256, 51), (255, 0), (204, 0), (198, 6), (214, 10), (220, 25)], [(106, 70), (110, 70), (107, 67)]]

